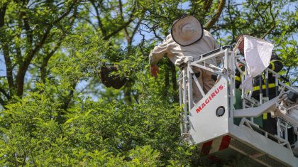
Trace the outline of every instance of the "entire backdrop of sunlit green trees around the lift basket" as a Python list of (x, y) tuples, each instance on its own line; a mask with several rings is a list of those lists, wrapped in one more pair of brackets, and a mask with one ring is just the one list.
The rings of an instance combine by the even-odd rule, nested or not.
[[(264, 37), (297, 85), (294, 2), (224, 2), (220, 11), (222, 0), (1, 1), (0, 165), (198, 166), (180, 141), (178, 69), (163, 58), (158, 79), (149, 72), (175, 19), (197, 16), (221, 45)], [(126, 85), (104, 87), (103, 65)]]

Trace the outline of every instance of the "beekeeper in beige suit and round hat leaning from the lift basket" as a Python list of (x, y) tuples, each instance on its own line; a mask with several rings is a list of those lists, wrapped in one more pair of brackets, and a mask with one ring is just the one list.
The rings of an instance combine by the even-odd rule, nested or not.
[[(197, 18), (184, 16), (173, 23), (171, 33), (165, 40), (151, 50), (149, 55), (150, 72), (153, 77), (158, 77), (157, 63), (164, 55), (182, 70), (187, 67), (184, 63), (185, 58), (190, 56), (195, 60), (200, 55), (216, 48), (219, 48), (216, 40), (209, 31), (203, 29)], [(207, 60), (206, 63), (216, 65), (216, 59)], [(216, 76), (201, 68), (194, 68), (193, 70), (204, 92), (208, 92), (214, 86)], [(199, 102), (202, 95), (194, 81), (192, 81), (192, 85), (194, 102)]]

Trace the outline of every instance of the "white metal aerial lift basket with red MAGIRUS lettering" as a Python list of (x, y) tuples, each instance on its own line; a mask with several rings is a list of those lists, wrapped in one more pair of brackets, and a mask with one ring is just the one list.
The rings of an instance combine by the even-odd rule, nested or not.
[[(252, 160), (252, 166), (298, 166), (298, 158), (293, 153), (294, 144), (291, 146), (287, 134), (287, 129), (292, 127), (297, 135), (297, 120), (287, 119), (283, 117), (284, 114), (280, 114), (277, 108), (278, 96), (268, 100), (261, 95), (260, 101), (257, 101), (251, 98), (251, 92), (242, 90), (241, 96), (236, 98), (239, 90), (235, 88), (234, 74), (241, 58), (234, 55), (231, 49), (231, 46), (224, 46), (202, 55), (199, 60), (185, 60), (187, 68), (181, 71), (179, 80), (180, 104), (184, 109), (182, 138), (191, 144), (197, 144), (199, 156), (211, 162), (227, 161), (242, 155)], [(217, 67), (207, 64), (206, 60), (209, 58), (221, 58), (221, 65)], [(216, 84), (206, 95), (193, 75), (193, 67), (218, 75)], [(245, 72), (247, 71), (242, 75)], [(273, 71), (267, 69), (265, 72)], [(279, 78), (280, 75), (275, 73), (277, 89), (298, 94), (297, 90), (280, 82)], [(204, 95), (197, 104), (192, 100), (193, 85), (189, 80), (194, 80), (195, 86)], [(240, 109), (237, 109), (236, 103), (241, 104)], [(263, 113), (272, 113), (277, 117), (276, 135), (263, 130), (256, 121)], [(290, 117), (289, 114), (287, 117)]]

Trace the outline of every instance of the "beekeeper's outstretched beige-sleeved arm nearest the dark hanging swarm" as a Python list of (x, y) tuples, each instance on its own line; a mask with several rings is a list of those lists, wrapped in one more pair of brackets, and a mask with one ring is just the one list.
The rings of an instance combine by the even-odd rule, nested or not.
[(150, 52), (150, 73), (155, 78), (158, 77), (158, 72), (160, 71), (157, 63), (165, 55), (165, 53), (167, 53), (167, 39), (165, 39), (160, 45), (155, 46), (155, 48)]

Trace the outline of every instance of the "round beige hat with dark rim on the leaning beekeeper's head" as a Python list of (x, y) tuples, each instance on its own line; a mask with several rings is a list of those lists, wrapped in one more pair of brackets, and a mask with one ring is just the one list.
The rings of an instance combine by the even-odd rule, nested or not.
[(176, 43), (192, 45), (202, 38), (203, 26), (194, 16), (183, 16), (173, 23), (171, 34)]

